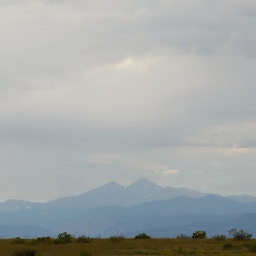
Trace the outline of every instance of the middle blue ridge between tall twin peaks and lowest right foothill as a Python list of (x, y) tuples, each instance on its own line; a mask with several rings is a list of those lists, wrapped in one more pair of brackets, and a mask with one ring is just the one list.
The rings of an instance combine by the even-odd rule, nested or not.
[(109, 236), (117, 231), (127, 233), (168, 225), (220, 222), (233, 219), (238, 214), (251, 212), (256, 212), (256, 203), (239, 203), (214, 195), (203, 198), (180, 196), (170, 200), (150, 201), (133, 207), (98, 207), (87, 211), (79, 218), (66, 219), (58, 223), (41, 223), (41, 225), (58, 232), (68, 230), (74, 234)]

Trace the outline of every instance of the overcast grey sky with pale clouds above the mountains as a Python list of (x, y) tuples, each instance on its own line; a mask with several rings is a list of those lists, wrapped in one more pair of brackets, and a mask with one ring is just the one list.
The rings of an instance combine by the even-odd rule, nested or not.
[(254, 0), (1, 0), (0, 201), (256, 196), (255, 27)]

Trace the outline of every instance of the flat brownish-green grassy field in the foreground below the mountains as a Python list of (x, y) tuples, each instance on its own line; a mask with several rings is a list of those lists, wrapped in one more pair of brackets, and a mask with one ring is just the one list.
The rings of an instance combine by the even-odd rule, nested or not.
[[(0, 241), (0, 255), (19, 255), (23, 249), (36, 250), (37, 256), (92, 256), (92, 255), (256, 255), (256, 240), (214, 241), (213, 239), (93, 239), (91, 243), (37, 243), (26, 240), (13, 244)], [(18, 252), (17, 252), (18, 251)], [(16, 252), (16, 254), (15, 254)]]

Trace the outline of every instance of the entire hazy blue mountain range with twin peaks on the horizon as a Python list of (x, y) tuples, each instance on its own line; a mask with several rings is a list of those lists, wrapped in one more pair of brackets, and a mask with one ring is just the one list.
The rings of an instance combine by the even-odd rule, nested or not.
[[(248, 226), (252, 219), (256, 220), (256, 214), (250, 215), (255, 212), (256, 198), (249, 195), (222, 197), (187, 188), (164, 188), (147, 179), (129, 186), (112, 181), (84, 194), (47, 203), (15, 200), (0, 203), (0, 235), (55, 236), (68, 231), (107, 237), (117, 231), (127, 236), (147, 231), (157, 237), (172, 237), (199, 227), (212, 234), (227, 231), (221, 227), (233, 223), (237, 227), (242, 223)], [(251, 224), (250, 229), (256, 234)], [(12, 232), (6, 231), (4, 235), (2, 230)]]

